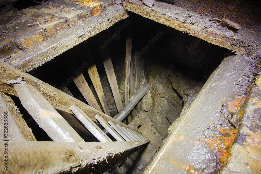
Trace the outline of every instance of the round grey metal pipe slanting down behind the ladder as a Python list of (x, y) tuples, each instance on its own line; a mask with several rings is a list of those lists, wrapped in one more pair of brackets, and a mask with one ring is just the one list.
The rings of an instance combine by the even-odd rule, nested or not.
[(137, 105), (137, 103), (140, 101), (140, 99), (147, 93), (147, 91), (150, 89), (149, 83), (145, 83), (142, 88), (135, 94), (133, 99), (129, 101), (123, 109), (114, 117), (118, 121), (122, 121), (124, 118), (128, 116), (128, 114), (131, 112), (131, 110)]

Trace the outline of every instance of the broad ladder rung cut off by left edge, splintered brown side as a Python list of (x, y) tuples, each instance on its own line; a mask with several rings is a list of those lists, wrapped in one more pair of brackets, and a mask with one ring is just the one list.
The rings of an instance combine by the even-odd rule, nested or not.
[[(32, 130), (28, 128), (14, 101), (0, 92), (0, 140), (36, 141)], [(4, 129), (6, 128), (6, 130)], [(7, 134), (6, 132), (7, 131)], [(7, 135), (6, 137), (4, 135)]]

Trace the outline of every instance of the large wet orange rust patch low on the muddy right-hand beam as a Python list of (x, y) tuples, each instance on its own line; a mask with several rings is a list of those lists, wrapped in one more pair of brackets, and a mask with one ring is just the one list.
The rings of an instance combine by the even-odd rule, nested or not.
[(212, 135), (211, 139), (205, 138), (205, 141), (208, 143), (210, 149), (216, 151), (218, 163), (223, 166), (228, 163), (228, 159), (231, 155), (231, 147), (235, 142), (238, 129), (217, 127), (217, 130), (222, 134)]

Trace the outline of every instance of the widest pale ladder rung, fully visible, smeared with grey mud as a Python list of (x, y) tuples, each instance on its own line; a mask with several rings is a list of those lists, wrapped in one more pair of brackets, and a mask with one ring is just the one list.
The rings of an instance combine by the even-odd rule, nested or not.
[(52, 140), (57, 142), (84, 142), (63, 117), (34, 87), (26, 82), (14, 86), (21, 104)]

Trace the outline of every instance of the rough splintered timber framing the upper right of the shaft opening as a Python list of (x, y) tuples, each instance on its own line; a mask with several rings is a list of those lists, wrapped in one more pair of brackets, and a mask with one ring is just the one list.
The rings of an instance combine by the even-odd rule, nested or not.
[(203, 39), (209, 43), (227, 48), (237, 54), (248, 56), (260, 50), (260, 34), (241, 28), (238, 33), (222, 27), (222, 21), (155, 1), (152, 8), (139, 0), (124, 0), (126, 10), (147, 17), (156, 22)]

